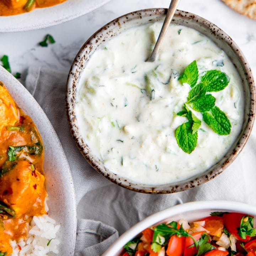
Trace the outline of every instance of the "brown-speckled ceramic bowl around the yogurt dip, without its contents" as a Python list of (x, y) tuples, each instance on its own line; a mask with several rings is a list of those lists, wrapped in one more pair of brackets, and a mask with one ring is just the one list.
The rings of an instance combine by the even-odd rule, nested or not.
[(119, 33), (127, 30), (130, 27), (155, 21), (163, 21), (166, 12), (167, 9), (162, 8), (130, 12), (129, 14), (123, 15), (100, 28), (100, 30), (98, 30), (86, 41), (84, 46), (82, 46), (76, 55), (69, 72), (66, 86), (66, 113), (68, 116), (70, 131), (76, 145), (85, 159), (95, 170), (117, 185), (133, 191), (152, 194), (174, 193), (187, 190), (188, 188), (199, 186), (219, 175), (231, 164), (231, 162), (235, 160), (235, 158), (244, 148), (251, 133), (255, 119), (255, 83), (251, 69), (239, 47), (226, 33), (224, 33), (213, 23), (190, 12), (177, 10), (174, 18), (172, 19), (172, 23), (194, 28), (212, 39), (212, 41), (214, 41), (229, 56), (239, 75), (241, 76), (245, 95), (245, 113), (244, 123), (238, 138), (225, 156), (219, 162), (217, 162), (217, 164), (213, 165), (210, 167), (210, 169), (202, 174), (191, 177), (185, 181), (157, 186), (135, 183), (132, 180), (120, 177), (117, 174), (109, 171), (93, 154), (85, 140), (81, 137), (75, 113), (77, 86), (81, 73), (85, 69), (86, 63), (89, 61), (91, 55), (94, 53), (97, 47), (101, 45), (101, 43), (109, 40), (111, 37), (117, 36)]

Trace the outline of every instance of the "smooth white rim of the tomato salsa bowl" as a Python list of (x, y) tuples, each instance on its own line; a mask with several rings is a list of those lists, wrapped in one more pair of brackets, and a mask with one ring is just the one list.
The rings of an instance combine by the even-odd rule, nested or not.
[(108, 249), (103, 253), (102, 256), (113, 256), (118, 253), (119, 250), (136, 235), (138, 235), (144, 229), (155, 225), (156, 223), (162, 222), (167, 218), (171, 218), (177, 214), (199, 211), (199, 210), (211, 210), (216, 211), (230, 211), (240, 212), (249, 215), (256, 216), (256, 207), (249, 204), (233, 202), (233, 201), (196, 201), (178, 204), (176, 206), (167, 208), (160, 212), (154, 213), (145, 219), (141, 220), (126, 232), (124, 232)]

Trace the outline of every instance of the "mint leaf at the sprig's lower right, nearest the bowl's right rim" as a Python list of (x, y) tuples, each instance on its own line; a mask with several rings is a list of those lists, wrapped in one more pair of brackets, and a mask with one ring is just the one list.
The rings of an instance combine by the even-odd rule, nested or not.
[(230, 134), (231, 123), (226, 114), (216, 106), (212, 108), (211, 112), (212, 114), (208, 112), (203, 113), (203, 121), (219, 135)]

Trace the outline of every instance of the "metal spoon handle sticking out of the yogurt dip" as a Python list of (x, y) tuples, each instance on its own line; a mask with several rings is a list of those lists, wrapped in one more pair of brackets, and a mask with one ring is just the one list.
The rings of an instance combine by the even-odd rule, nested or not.
[(161, 43), (164, 39), (164, 36), (165, 36), (165, 33), (171, 23), (171, 20), (172, 20), (172, 17), (174, 16), (174, 13), (178, 7), (178, 4), (179, 4), (180, 0), (171, 0), (171, 3), (170, 3), (170, 6), (169, 6), (169, 9), (167, 11), (167, 14), (166, 14), (166, 17), (165, 17), (165, 20), (164, 20), (164, 23), (162, 25), (162, 28), (161, 28), (161, 31), (160, 31), (160, 34), (158, 36), (158, 39), (156, 41), (156, 44), (155, 44), (155, 47), (154, 47), (154, 50), (153, 52), (151, 53), (150, 57), (148, 58), (148, 60), (146, 60), (147, 62), (154, 62), (155, 59), (156, 59), (156, 55), (159, 51), (159, 48), (161, 46)]

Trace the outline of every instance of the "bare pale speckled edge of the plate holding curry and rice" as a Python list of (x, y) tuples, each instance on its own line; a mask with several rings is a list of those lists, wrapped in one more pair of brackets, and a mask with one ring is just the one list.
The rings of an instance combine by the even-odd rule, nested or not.
[[(75, 190), (68, 161), (58, 136), (48, 117), (27, 89), (0, 66), (0, 81), (2, 81), (17, 105), (30, 116), (36, 124), (44, 144), (44, 172), (49, 194), (49, 217), (60, 224), (59, 256), (74, 255), (76, 241), (76, 202)], [(22, 95), (22, 97), (20, 97)], [(58, 157), (53, 155), (58, 152)], [(52, 177), (52, 178), (51, 178)], [(57, 180), (59, 183), (56, 184)], [(59, 186), (62, 184), (62, 186)], [(66, 190), (63, 190), (65, 188)], [(55, 199), (51, 200), (51, 198)], [(62, 198), (62, 200), (59, 200)], [(53, 202), (54, 201), (54, 202)], [(66, 207), (66, 208), (65, 208)], [(65, 208), (65, 209), (63, 209)]]

